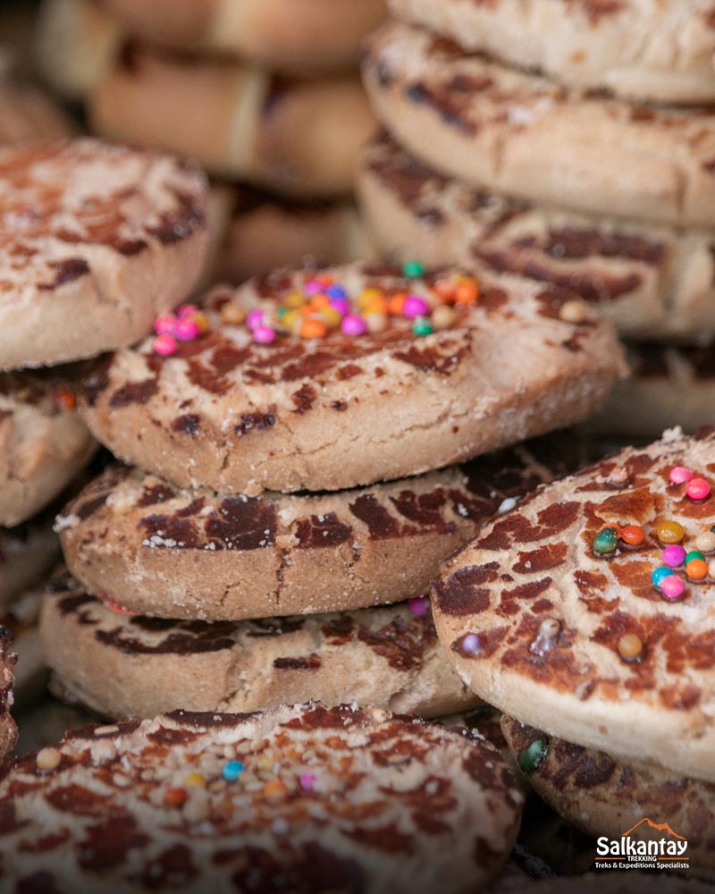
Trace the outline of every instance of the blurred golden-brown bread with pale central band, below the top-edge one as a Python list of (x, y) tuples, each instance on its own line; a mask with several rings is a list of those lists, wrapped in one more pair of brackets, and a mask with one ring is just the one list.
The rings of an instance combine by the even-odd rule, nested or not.
[(93, 91), (94, 129), (162, 146), (277, 193), (348, 195), (374, 116), (355, 75), (278, 78), (256, 67), (131, 47)]

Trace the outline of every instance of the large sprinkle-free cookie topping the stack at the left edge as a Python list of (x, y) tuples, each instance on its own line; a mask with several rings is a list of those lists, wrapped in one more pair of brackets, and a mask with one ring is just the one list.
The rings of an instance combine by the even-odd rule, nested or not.
[(206, 249), (187, 164), (94, 139), (0, 149), (0, 369), (130, 344), (177, 305)]

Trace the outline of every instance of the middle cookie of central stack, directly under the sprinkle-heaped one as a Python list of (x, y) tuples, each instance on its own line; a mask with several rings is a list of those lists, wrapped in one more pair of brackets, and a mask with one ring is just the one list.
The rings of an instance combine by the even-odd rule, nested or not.
[(110, 468), (56, 529), (89, 592), (140, 614), (242, 620), (364, 608), (424, 593), (439, 562), (502, 504), (576, 468), (571, 451), (570, 439), (551, 439), (321, 495), (176, 491), (139, 469)]

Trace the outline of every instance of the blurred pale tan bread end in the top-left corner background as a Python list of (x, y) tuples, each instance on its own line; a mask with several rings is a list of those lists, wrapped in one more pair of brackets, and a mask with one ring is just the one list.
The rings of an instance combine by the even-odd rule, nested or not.
[(112, 65), (122, 32), (96, 0), (43, 0), (37, 13), (35, 63), (61, 97), (80, 102)]

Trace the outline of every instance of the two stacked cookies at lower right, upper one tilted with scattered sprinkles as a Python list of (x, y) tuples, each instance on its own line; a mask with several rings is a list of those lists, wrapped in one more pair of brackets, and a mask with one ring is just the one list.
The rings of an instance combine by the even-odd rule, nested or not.
[(713, 460), (712, 426), (627, 448), (483, 527), (433, 586), (455, 668), (597, 863), (715, 876)]

